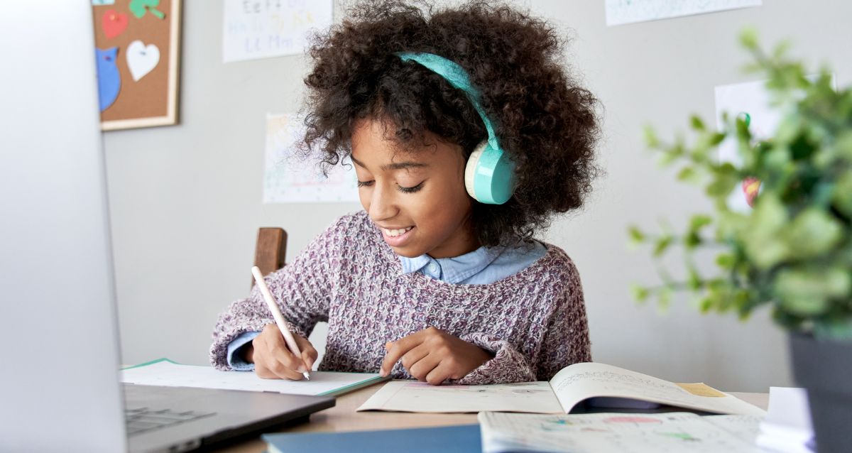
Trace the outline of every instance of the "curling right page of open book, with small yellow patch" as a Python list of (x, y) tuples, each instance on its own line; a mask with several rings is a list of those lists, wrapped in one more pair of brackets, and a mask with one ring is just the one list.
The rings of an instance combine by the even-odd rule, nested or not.
[(585, 362), (569, 365), (550, 380), (565, 413), (592, 397), (642, 399), (720, 414), (765, 416), (757, 406), (704, 384), (675, 384), (613, 365)]

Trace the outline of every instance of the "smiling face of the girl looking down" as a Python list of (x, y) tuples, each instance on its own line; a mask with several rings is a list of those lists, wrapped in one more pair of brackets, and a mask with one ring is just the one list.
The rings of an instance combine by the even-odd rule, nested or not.
[(397, 255), (433, 258), (479, 247), (468, 218), (461, 147), (427, 133), (429, 146), (400, 150), (378, 121), (360, 121), (352, 135), (358, 194), (370, 218)]

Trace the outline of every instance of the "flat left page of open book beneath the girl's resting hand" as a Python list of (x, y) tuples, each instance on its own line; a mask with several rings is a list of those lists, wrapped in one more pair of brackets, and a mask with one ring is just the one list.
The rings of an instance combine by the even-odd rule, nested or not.
[(518, 382), (482, 386), (433, 386), (418, 381), (391, 381), (358, 410), (398, 412), (480, 412), (506, 410), (559, 414), (562, 409), (550, 384)]

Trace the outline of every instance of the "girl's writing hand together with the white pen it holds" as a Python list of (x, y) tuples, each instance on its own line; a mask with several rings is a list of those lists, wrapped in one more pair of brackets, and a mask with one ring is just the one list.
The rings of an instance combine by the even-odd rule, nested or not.
[(304, 377), (309, 380), (308, 373), (318, 356), (316, 349), (306, 338), (291, 334), (260, 269), (252, 267), (251, 273), (275, 318), (275, 324), (268, 324), (256, 336), (246, 359), (255, 364), (255, 372), (262, 378), (298, 381)]

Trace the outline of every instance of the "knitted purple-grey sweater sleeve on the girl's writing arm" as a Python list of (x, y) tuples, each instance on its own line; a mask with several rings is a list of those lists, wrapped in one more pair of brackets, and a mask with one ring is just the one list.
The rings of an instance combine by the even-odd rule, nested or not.
[[(308, 338), (314, 326), (328, 320), (332, 283), (337, 280), (335, 264), (339, 264), (335, 238), (343, 220), (330, 226), (308, 244), (296, 259), (264, 280), (278, 302), (281, 314), (296, 335)], [(219, 315), (210, 345), (210, 364), (219, 370), (232, 370), (227, 361), (227, 347), (245, 332), (260, 331), (275, 320), (263, 295), (255, 286), (246, 299), (233, 301)]]

